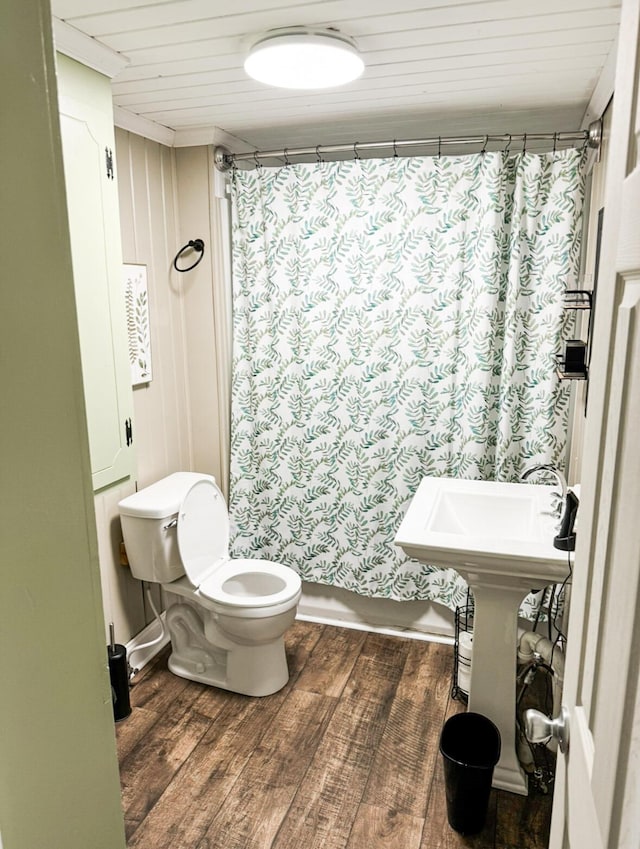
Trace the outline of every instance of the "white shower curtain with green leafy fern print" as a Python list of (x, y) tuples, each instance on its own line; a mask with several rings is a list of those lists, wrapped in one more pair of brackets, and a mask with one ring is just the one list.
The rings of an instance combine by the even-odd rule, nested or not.
[[(369, 596), (464, 603), (395, 532), (425, 475), (564, 463), (582, 155), (482, 153), (233, 175), (236, 557)], [(522, 614), (532, 616), (533, 598)]]

